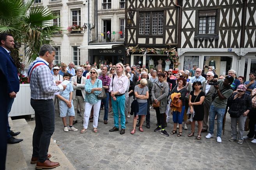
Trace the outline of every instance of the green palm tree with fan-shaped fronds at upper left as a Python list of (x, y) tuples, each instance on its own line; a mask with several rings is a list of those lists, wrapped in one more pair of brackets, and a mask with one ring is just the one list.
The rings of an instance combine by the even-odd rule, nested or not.
[(43, 44), (54, 43), (53, 33), (63, 31), (50, 23), (60, 16), (33, 3), (34, 0), (0, 0), (0, 33), (11, 33), (17, 44), (25, 45), (28, 62), (35, 60)]

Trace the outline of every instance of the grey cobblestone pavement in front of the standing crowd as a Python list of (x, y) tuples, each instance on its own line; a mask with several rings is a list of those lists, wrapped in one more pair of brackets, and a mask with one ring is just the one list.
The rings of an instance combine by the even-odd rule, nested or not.
[[(134, 135), (130, 134), (133, 116), (128, 118), (125, 134), (120, 135), (120, 130), (108, 131), (113, 127), (113, 116), (109, 114), (108, 124), (105, 125), (102, 116), (104, 112), (101, 110), (99, 132), (94, 133), (92, 123), (89, 122), (87, 132), (80, 134), (83, 127), (81, 120), (74, 125), (78, 128), (77, 132), (64, 132), (62, 120), (56, 114), (55, 133), (52, 137), (78, 170), (256, 169), (256, 144), (250, 140), (245, 140), (242, 145), (228, 141), (231, 134), (229, 115), (226, 116), (222, 143), (217, 143), (216, 130), (211, 139), (206, 139), (207, 134), (202, 133), (201, 140), (197, 140), (197, 129), (193, 137), (187, 137), (191, 130), (184, 129), (181, 137), (171, 135), (172, 121), (166, 127), (169, 137), (154, 132), (155, 110), (150, 109), (150, 113), (151, 128), (147, 129), (144, 123), (144, 132), (139, 132), (136, 127)], [(188, 128), (191, 128), (190, 125)]]

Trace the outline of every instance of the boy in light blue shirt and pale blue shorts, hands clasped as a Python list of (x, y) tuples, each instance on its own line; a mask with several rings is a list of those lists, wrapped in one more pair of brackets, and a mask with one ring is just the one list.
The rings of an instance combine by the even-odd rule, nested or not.
[[(64, 73), (63, 81), (64, 80), (69, 81), (70, 78), (71, 78), (70, 73)], [(57, 97), (60, 99), (59, 101), (60, 117), (62, 118), (62, 122), (64, 124), (64, 132), (69, 132), (69, 130), (78, 131), (78, 129), (73, 127), (75, 111), (74, 111), (74, 105), (72, 100), (72, 92), (73, 92), (73, 87), (71, 83), (68, 83), (66, 89), (57, 95)], [(67, 126), (67, 123), (66, 123), (67, 115), (69, 116), (69, 126)]]

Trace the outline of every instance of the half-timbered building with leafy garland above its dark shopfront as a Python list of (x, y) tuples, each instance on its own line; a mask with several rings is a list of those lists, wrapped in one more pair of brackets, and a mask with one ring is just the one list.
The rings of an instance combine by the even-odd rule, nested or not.
[[(175, 0), (126, 0), (125, 46), (131, 65), (169, 69), (170, 50), (177, 47), (178, 7)], [(169, 53), (170, 52), (170, 53)], [(128, 61), (127, 59), (127, 61)]]

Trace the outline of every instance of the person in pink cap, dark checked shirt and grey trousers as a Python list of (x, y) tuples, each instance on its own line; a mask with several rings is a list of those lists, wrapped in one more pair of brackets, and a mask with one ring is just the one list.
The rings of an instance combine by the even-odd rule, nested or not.
[(228, 110), (231, 120), (231, 138), (229, 141), (237, 141), (238, 136), (238, 144), (243, 144), (244, 142), (244, 124), (246, 116), (252, 107), (251, 96), (245, 93), (245, 91), (245, 85), (241, 84), (237, 87), (237, 92), (234, 92), (233, 95), (231, 95), (230, 99), (228, 99), (229, 101), (231, 101), (230, 109)]

